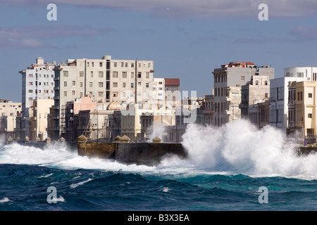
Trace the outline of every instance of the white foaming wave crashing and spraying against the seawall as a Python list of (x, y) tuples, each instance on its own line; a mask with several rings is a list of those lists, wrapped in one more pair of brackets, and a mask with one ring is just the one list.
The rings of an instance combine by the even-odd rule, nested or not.
[(317, 155), (297, 156), (282, 131), (256, 129), (246, 120), (223, 127), (188, 124), (182, 145), (189, 157), (169, 157), (156, 167), (124, 165), (113, 160), (78, 156), (66, 146), (44, 150), (13, 143), (0, 150), (0, 164), (38, 165), (56, 169), (103, 169), (142, 174), (246, 174), (317, 179)]

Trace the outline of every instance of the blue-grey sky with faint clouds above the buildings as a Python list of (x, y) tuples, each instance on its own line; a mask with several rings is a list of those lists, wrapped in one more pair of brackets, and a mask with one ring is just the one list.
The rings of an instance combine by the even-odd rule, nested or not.
[[(49, 4), (56, 5), (56, 19)], [(260, 4), (268, 6), (268, 20)], [(154, 77), (212, 94), (215, 68), (247, 61), (317, 66), (316, 0), (1, 0), (0, 99), (22, 101), (20, 70), (37, 57), (154, 60)], [(189, 92), (190, 93), (190, 92)], [(190, 94), (189, 94), (190, 96)]]

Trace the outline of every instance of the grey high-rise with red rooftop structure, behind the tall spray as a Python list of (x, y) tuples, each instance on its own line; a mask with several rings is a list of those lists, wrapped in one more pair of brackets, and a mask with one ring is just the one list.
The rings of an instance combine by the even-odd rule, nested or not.
[(256, 76), (273, 79), (274, 68), (257, 66), (250, 62), (231, 62), (213, 70), (214, 125), (221, 126), (240, 120), (241, 87), (250, 82), (252, 77), (254, 81), (258, 80), (259, 77)]

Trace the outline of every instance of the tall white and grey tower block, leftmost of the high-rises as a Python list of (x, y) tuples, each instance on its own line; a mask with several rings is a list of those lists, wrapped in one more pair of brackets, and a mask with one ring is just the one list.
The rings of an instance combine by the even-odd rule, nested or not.
[(44, 63), (44, 58), (37, 58), (26, 70), (21, 70), (22, 75), (22, 139), (30, 136), (30, 108), (35, 99), (54, 98), (54, 67), (56, 63)]

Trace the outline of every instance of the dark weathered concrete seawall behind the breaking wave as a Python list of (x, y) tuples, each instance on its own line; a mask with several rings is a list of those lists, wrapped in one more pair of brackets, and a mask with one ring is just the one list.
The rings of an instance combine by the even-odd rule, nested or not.
[(187, 158), (181, 143), (130, 143), (126, 139), (115, 142), (87, 141), (85, 136), (77, 139), (78, 155), (92, 158), (112, 159), (125, 164), (158, 165), (163, 158), (177, 155)]

